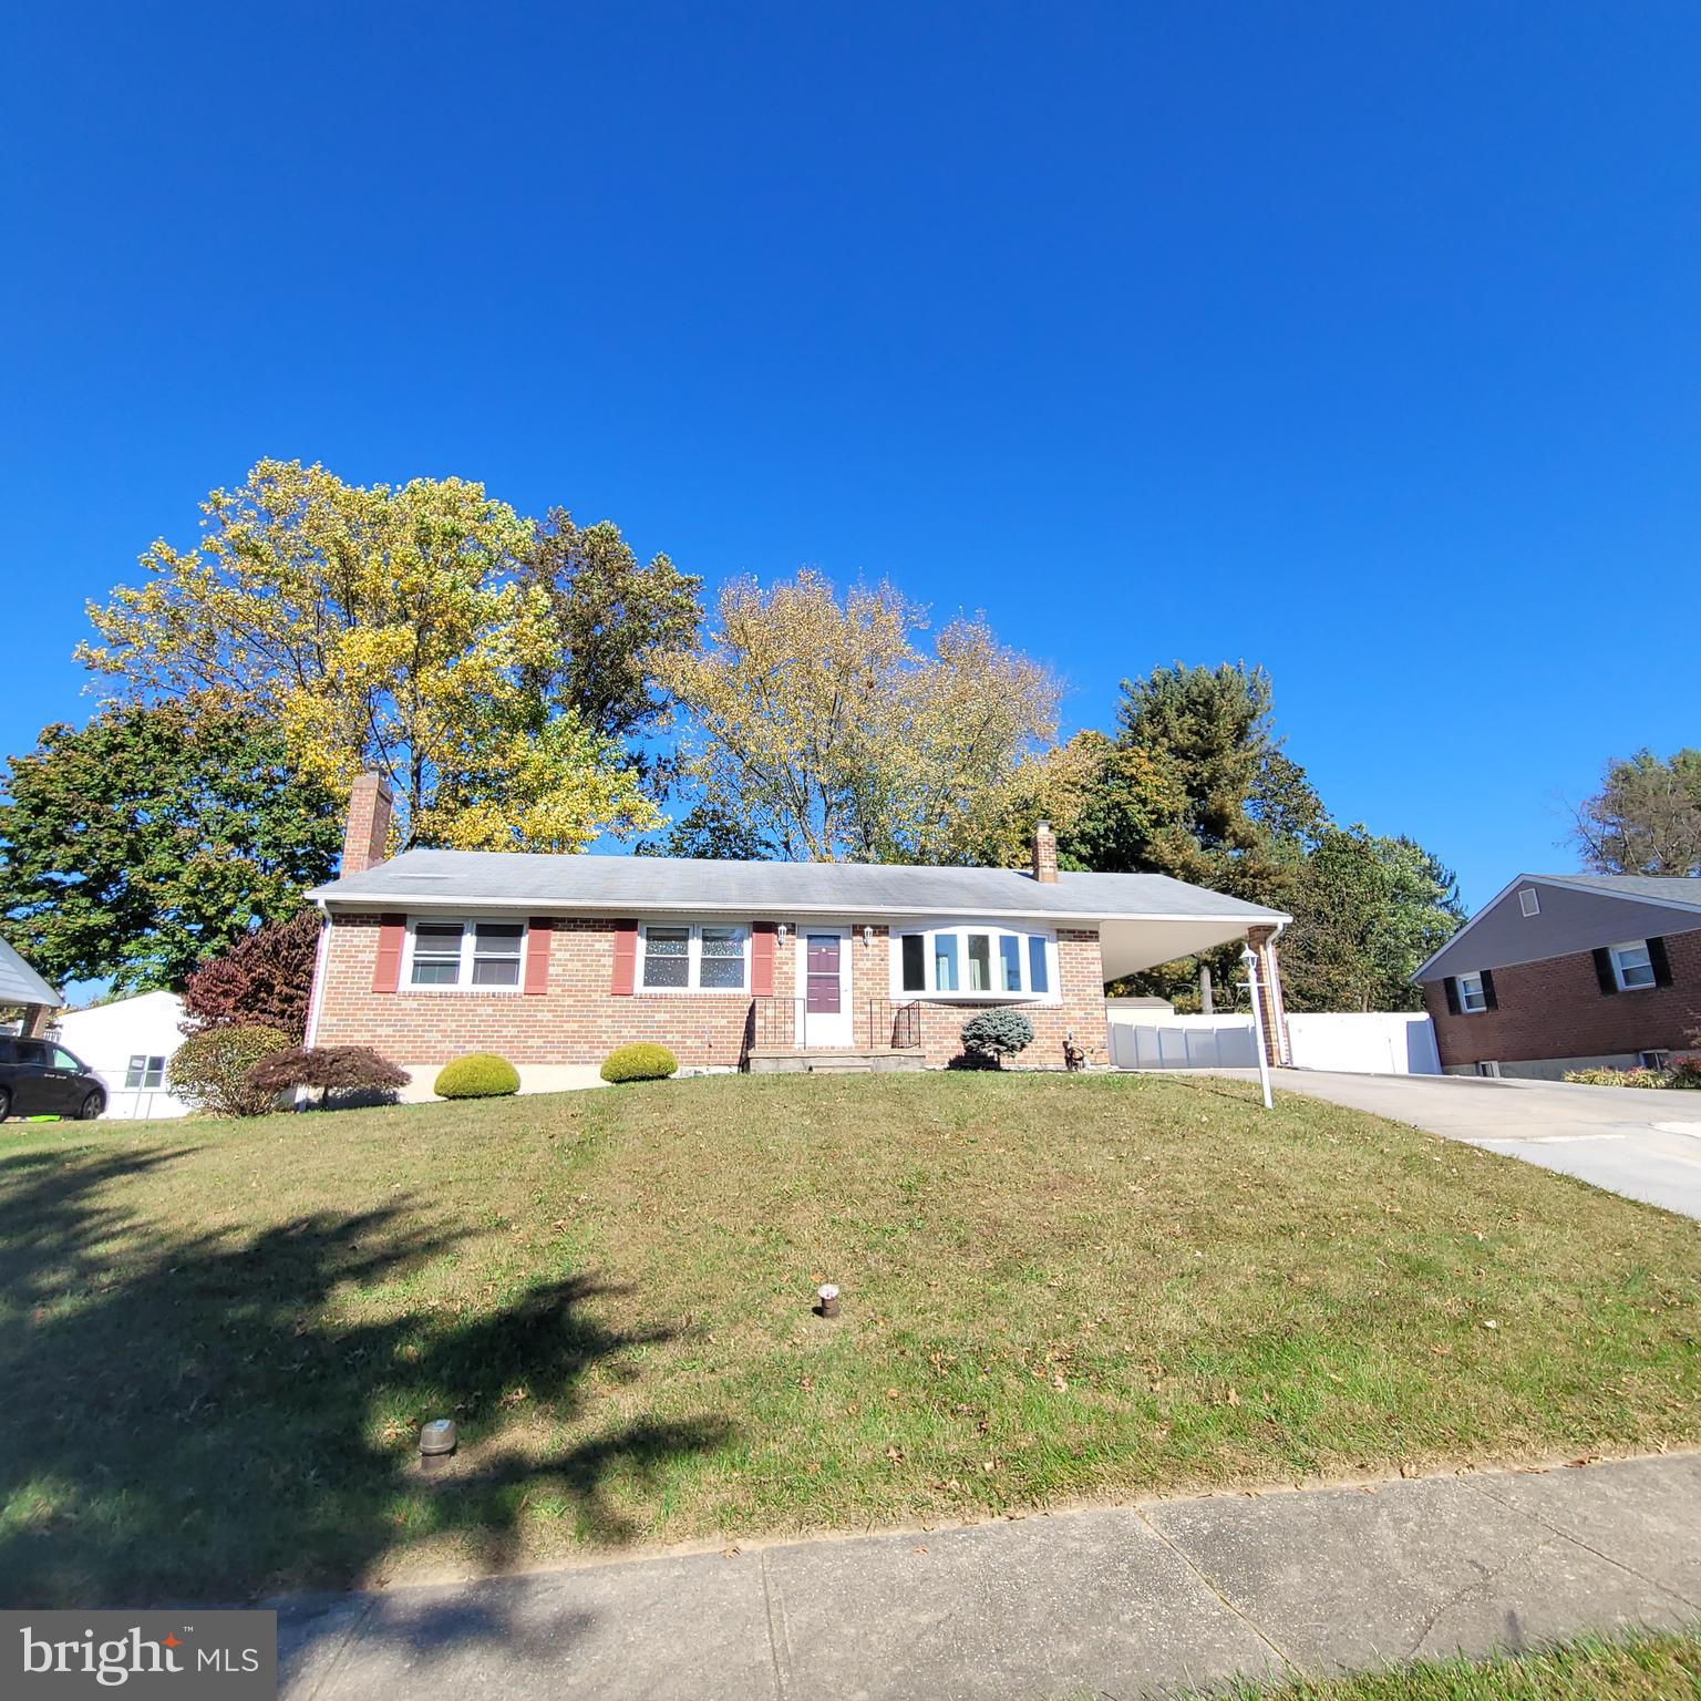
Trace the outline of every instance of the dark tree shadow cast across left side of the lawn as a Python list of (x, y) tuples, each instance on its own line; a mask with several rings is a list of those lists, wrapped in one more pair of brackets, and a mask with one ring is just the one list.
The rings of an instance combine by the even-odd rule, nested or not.
[[(612, 1289), (594, 1276), (456, 1310), (410, 1279), (464, 1232), (422, 1225), (410, 1199), (259, 1233), (124, 1208), (126, 1184), (184, 1155), (0, 1162), (0, 1606), (337, 1585), (432, 1536), (502, 1567), (541, 1519), (619, 1543), (634, 1531), (616, 1480), (641, 1492), (726, 1441), (713, 1419), (553, 1439), (594, 1417), (594, 1366), (670, 1335), (597, 1322), (587, 1303)], [(327, 1315), (350, 1286), (384, 1286), (384, 1315)], [(500, 1434), (521, 1388), (541, 1419), (524, 1448)], [(439, 1415), (466, 1446), (452, 1475), (424, 1478), (417, 1424)]]

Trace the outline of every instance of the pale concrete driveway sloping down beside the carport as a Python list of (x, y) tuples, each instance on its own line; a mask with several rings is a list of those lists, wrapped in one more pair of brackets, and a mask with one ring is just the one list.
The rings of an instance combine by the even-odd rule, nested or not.
[(1276, 1084), (1701, 1218), (1701, 1092), (1322, 1070)]

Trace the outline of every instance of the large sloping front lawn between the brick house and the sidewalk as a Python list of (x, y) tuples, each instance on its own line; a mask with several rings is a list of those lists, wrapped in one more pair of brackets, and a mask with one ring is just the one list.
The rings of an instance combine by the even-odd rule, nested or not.
[(1228, 1080), (12, 1126), (0, 1601), (1687, 1446), (1698, 1334), (1692, 1223)]

